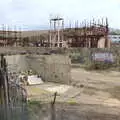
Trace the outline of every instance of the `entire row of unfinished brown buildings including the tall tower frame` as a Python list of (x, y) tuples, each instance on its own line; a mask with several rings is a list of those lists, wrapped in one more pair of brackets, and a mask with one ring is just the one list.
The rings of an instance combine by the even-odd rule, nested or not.
[[(25, 31), (10, 30), (5, 25), (0, 29), (0, 46), (29, 46), (34, 43), (37, 47), (86, 47), (86, 48), (110, 48), (110, 40), (108, 37), (109, 28), (108, 20), (101, 19), (90, 22), (84, 21), (81, 24), (74, 23), (74, 27), (64, 28), (64, 19), (59, 16), (50, 18), (49, 35), (43, 36), (42, 33), (37, 33), (31, 36), (23, 37)], [(22, 33), (22, 35), (21, 35)], [(34, 33), (34, 31), (32, 31)], [(32, 35), (30, 33), (30, 35)], [(49, 37), (49, 38), (48, 38)]]

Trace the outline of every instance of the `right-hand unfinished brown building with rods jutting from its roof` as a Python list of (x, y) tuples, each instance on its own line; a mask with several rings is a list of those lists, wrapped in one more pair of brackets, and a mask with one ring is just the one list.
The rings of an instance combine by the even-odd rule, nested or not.
[(74, 28), (70, 26), (64, 31), (69, 47), (110, 48), (107, 18), (105, 21), (102, 19), (98, 22), (84, 21), (80, 26), (76, 22)]

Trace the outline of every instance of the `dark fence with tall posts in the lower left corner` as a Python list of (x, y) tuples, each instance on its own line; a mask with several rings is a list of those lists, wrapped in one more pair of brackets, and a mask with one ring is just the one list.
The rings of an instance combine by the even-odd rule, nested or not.
[(27, 92), (9, 78), (4, 55), (0, 67), (0, 120), (26, 120)]

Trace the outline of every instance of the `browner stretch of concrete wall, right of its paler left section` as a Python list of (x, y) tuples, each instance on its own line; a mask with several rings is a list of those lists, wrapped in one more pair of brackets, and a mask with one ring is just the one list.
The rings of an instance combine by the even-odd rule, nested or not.
[(70, 60), (64, 55), (32, 55), (27, 58), (31, 68), (45, 81), (69, 84)]

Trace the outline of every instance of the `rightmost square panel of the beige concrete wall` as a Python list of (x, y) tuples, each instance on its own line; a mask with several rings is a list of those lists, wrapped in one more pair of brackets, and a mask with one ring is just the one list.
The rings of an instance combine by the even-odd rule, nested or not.
[(46, 57), (46, 79), (49, 81), (69, 83), (70, 80), (70, 59), (64, 55), (52, 55)]

